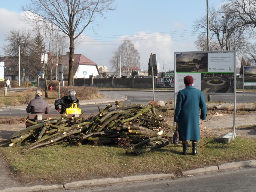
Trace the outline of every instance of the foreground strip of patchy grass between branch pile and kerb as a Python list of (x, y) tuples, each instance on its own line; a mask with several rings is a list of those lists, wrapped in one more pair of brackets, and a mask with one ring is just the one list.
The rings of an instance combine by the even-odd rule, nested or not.
[[(216, 143), (213, 138), (198, 143), (198, 155), (182, 156), (182, 146), (169, 144), (166, 147), (135, 156), (112, 146), (82, 145), (69, 143), (36, 148), (20, 154), (23, 145), (0, 147), (4, 159), (23, 182), (66, 183), (84, 179), (122, 177), (127, 175), (177, 173), (184, 170), (221, 163), (252, 160), (256, 156), (256, 140), (236, 138), (230, 144)], [(28, 144), (28, 143), (26, 143)]]

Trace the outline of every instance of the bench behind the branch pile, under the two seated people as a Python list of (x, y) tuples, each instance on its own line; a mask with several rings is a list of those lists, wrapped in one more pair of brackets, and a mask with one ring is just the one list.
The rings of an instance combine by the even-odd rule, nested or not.
[[(42, 122), (42, 120), (46, 120), (47, 117), (60, 117), (62, 114), (29, 114), (27, 119), (35, 121), (35, 122)], [(85, 114), (67, 114), (67, 117), (83, 117), (86, 118)], [(26, 122), (26, 127), (32, 126), (32, 123)]]

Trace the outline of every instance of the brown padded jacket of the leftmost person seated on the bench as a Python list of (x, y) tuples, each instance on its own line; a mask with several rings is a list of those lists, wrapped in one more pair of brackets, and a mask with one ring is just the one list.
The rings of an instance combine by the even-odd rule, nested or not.
[(50, 108), (47, 101), (45, 101), (42, 96), (35, 96), (35, 98), (29, 102), (26, 111), (27, 113), (31, 112), (31, 114), (49, 114)]

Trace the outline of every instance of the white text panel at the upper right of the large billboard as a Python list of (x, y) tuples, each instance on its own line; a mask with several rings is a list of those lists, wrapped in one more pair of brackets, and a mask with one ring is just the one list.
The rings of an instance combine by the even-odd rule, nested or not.
[(208, 53), (208, 72), (234, 72), (234, 53)]

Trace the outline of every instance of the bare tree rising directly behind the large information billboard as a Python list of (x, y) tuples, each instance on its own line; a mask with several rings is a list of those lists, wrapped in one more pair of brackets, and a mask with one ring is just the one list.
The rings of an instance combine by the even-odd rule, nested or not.
[[(239, 22), (237, 13), (230, 9), (228, 4), (221, 6), (219, 10), (212, 7), (209, 10), (209, 32), (210, 39), (214, 46), (211, 50), (236, 50), (237, 56), (242, 57), (243, 51), (248, 46), (247, 41), (248, 31), (247, 28)], [(201, 37), (198, 38), (197, 45), (205, 46), (206, 36), (206, 17), (197, 19), (194, 23), (194, 29), (200, 32)], [(240, 66), (239, 66), (240, 67)]]

